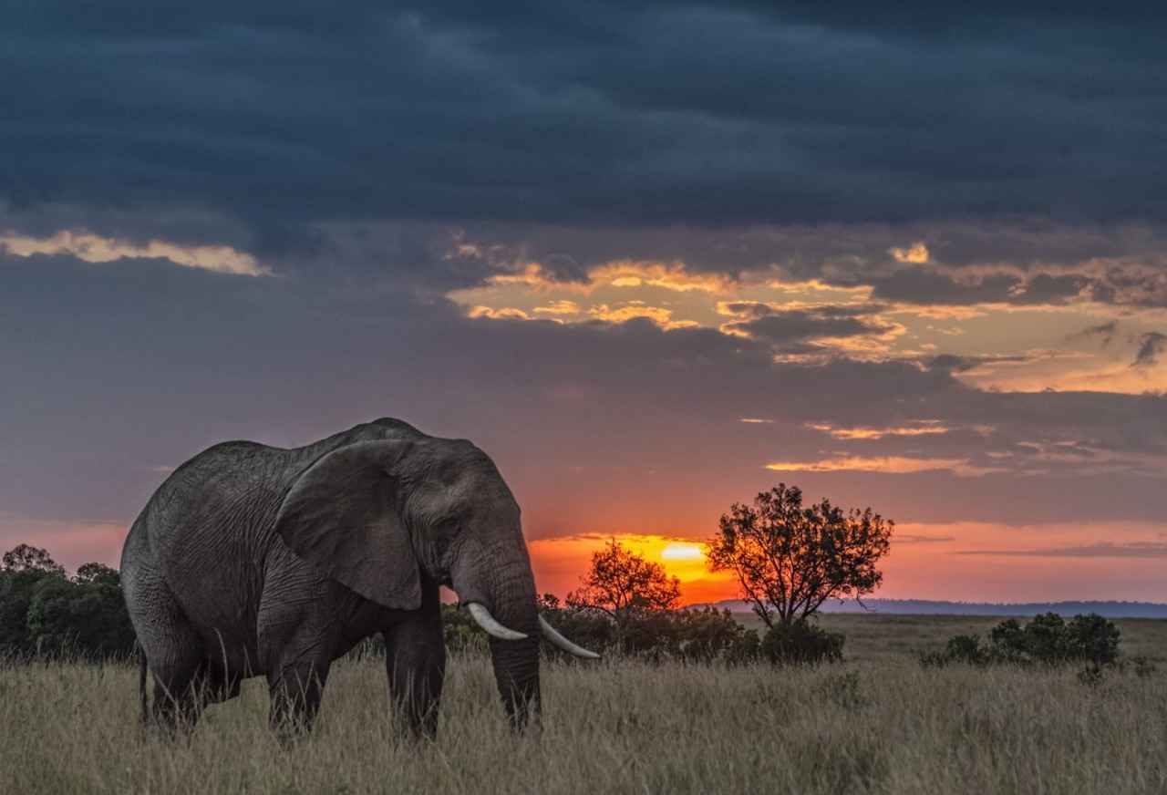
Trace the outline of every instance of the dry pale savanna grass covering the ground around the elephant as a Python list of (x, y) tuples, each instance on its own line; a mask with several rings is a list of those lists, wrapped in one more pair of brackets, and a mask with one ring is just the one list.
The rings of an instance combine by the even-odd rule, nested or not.
[[(377, 662), (342, 662), (315, 733), (287, 751), (260, 681), (168, 742), (139, 728), (132, 668), (7, 668), (0, 791), (1167, 791), (1162, 671), (1085, 686), (1075, 669), (924, 670), (908, 654), (995, 621), (825, 616), (848, 661), (811, 670), (545, 665), (543, 731), (518, 738), (489, 661), (456, 655), (432, 744), (397, 731)], [(1167, 655), (1167, 622), (1121, 625), (1127, 654)]]

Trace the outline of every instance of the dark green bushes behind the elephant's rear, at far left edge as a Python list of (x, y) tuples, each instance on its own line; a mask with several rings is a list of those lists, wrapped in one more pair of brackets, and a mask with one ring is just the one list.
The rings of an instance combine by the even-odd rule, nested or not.
[(0, 656), (130, 654), (134, 629), (117, 570), (86, 563), (65, 574), (46, 550), (21, 544), (0, 565)]

